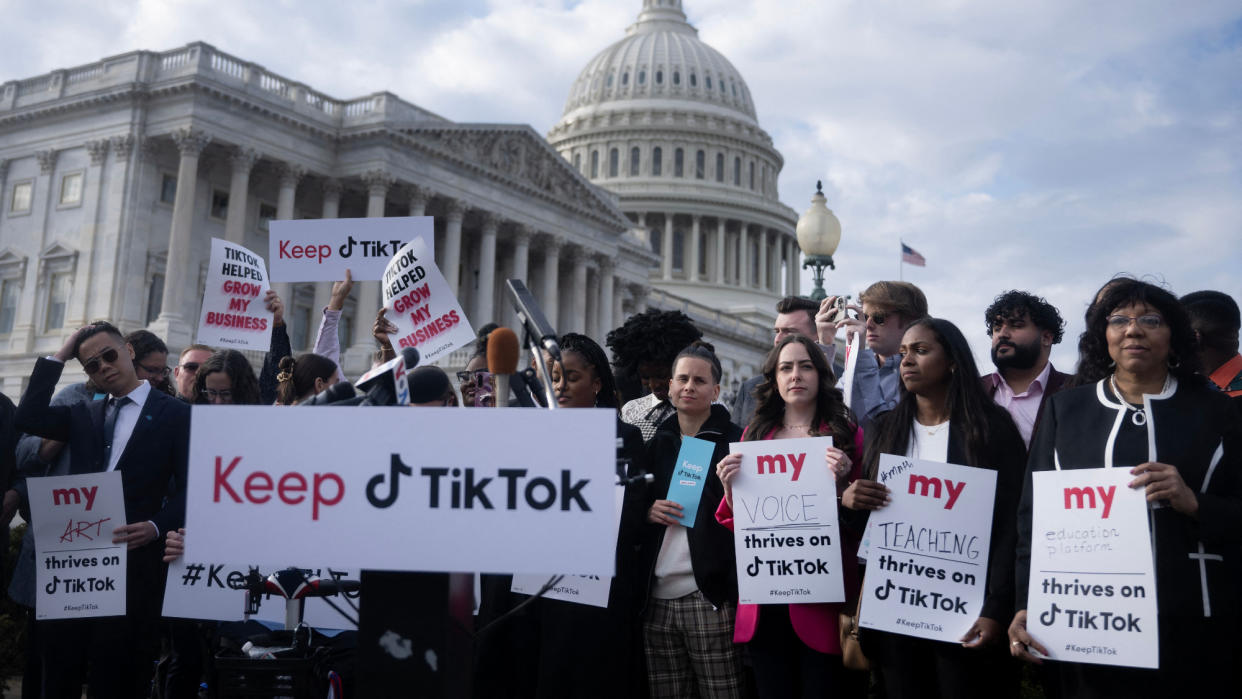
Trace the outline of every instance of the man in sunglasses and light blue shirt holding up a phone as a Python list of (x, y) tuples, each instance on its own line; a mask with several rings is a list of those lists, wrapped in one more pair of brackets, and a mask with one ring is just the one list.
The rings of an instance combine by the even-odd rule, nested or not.
[[(820, 343), (825, 345), (832, 344), (841, 328), (846, 329), (846, 341), (854, 334), (863, 336), (850, 410), (866, 431), (876, 416), (897, 406), (900, 384), (897, 368), (902, 363), (897, 348), (902, 346), (905, 328), (927, 317), (928, 299), (909, 282), (876, 282), (858, 295), (858, 300), (862, 305), (848, 304), (846, 310), (837, 313), (837, 297), (823, 299), (815, 324)], [(842, 317), (848, 310), (859, 315)]]

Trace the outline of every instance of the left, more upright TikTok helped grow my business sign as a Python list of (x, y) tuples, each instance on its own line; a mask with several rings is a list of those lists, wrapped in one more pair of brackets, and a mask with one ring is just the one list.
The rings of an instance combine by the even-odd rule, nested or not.
[(268, 288), (261, 257), (240, 245), (211, 238), (211, 262), (195, 341), (238, 350), (271, 349), (272, 314), (263, 305)]

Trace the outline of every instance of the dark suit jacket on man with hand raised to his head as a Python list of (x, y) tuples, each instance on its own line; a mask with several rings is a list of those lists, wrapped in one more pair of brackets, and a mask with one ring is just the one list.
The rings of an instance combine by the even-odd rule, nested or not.
[[(70, 446), (70, 473), (108, 468), (103, 444), (107, 401), (51, 406), (65, 365), (40, 358), (17, 405), (17, 428)], [(185, 524), (185, 474), (190, 449), (190, 406), (152, 390), (117, 469), (125, 490), (125, 519), (154, 521), (164, 534)]]

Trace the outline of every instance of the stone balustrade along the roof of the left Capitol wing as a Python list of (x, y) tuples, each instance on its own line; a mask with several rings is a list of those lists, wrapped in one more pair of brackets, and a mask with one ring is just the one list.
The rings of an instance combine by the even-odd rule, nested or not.
[(0, 113), (108, 88), (125, 88), (135, 83), (153, 86), (185, 78), (211, 81), (332, 127), (445, 120), (390, 92), (334, 99), (202, 42), (164, 52), (134, 51), (87, 66), (5, 82), (0, 84)]

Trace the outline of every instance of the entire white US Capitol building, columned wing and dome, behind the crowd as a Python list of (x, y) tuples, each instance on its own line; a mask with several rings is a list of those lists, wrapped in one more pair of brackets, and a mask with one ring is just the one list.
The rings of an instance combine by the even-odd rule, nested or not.
[[(433, 216), (436, 262), (474, 327), (515, 327), (525, 279), (558, 331), (599, 340), (681, 309), (717, 344), (724, 391), (771, 346), (799, 288), (796, 214), (750, 91), (679, 0), (645, 0), (570, 87), (548, 139), (457, 123), (378, 92), (335, 99), (196, 42), (0, 84), (0, 381), (107, 318), (193, 341), (211, 238), (266, 255), (273, 219)], [(330, 284), (276, 284), (294, 351)], [(376, 282), (355, 284), (348, 375), (374, 346)], [(441, 364), (465, 363), (465, 350)], [(66, 372), (66, 382), (77, 380)], [(732, 384), (732, 385), (730, 385)]]

